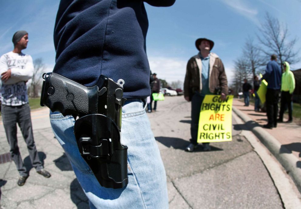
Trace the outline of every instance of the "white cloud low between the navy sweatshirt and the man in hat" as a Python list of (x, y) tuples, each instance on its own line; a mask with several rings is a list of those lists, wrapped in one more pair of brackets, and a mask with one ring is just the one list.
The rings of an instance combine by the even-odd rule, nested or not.
[(148, 57), (151, 72), (157, 73), (159, 79), (164, 79), (167, 83), (172, 81), (183, 81), (186, 73), (188, 60), (167, 57)]

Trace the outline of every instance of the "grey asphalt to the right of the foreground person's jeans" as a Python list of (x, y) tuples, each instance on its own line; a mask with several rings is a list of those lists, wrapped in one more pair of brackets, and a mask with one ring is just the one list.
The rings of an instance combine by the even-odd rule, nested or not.
[(210, 152), (185, 152), (190, 138), (190, 105), (181, 97), (158, 102), (148, 113), (166, 169), (170, 208), (283, 208), (259, 155), (232, 117), (230, 142), (211, 143)]

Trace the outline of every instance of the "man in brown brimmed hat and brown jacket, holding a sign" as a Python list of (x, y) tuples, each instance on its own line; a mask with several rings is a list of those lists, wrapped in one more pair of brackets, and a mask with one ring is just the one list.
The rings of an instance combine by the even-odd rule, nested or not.
[[(222, 60), (218, 55), (210, 52), (214, 42), (200, 38), (195, 41), (200, 51), (191, 57), (187, 63), (184, 81), (184, 97), (191, 101), (191, 139), (186, 151), (192, 152), (198, 147), (198, 123), (201, 104), (205, 95), (220, 94), (222, 101), (228, 93), (228, 82)], [(209, 143), (203, 143), (204, 151), (211, 150)]]

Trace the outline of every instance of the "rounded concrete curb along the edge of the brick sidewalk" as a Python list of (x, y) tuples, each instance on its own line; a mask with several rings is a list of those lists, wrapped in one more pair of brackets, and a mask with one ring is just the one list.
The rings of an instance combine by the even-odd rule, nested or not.
[(276, 157), (276, 159), (285, 168), (287, 174), (289, 174), (299, 192), (301, 193), (301, 169), (297, 167), (297, 163), (300, 160), (290, 153), (285, 147), (281, 147), (281, 143), (275, 139), (271, 134), (265, 131), (258, 123), (253, 121), (249, 116), (247, 116), (242, 111), (238, 110), (236, 107), (232, 106), (233, 112), (241, 118), (245, 125), (255, 134), (255, 136), (265, 145), (266, 148)]

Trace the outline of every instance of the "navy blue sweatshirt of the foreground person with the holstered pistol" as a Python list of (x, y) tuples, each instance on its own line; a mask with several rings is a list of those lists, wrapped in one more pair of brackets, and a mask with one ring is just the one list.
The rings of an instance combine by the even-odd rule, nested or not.
[(54, 28), (56, 72), (85, 86), (105, 75), (123, 79), (126, 98), (150, 95), (144, 2), (175, 0), (61, 0)]

